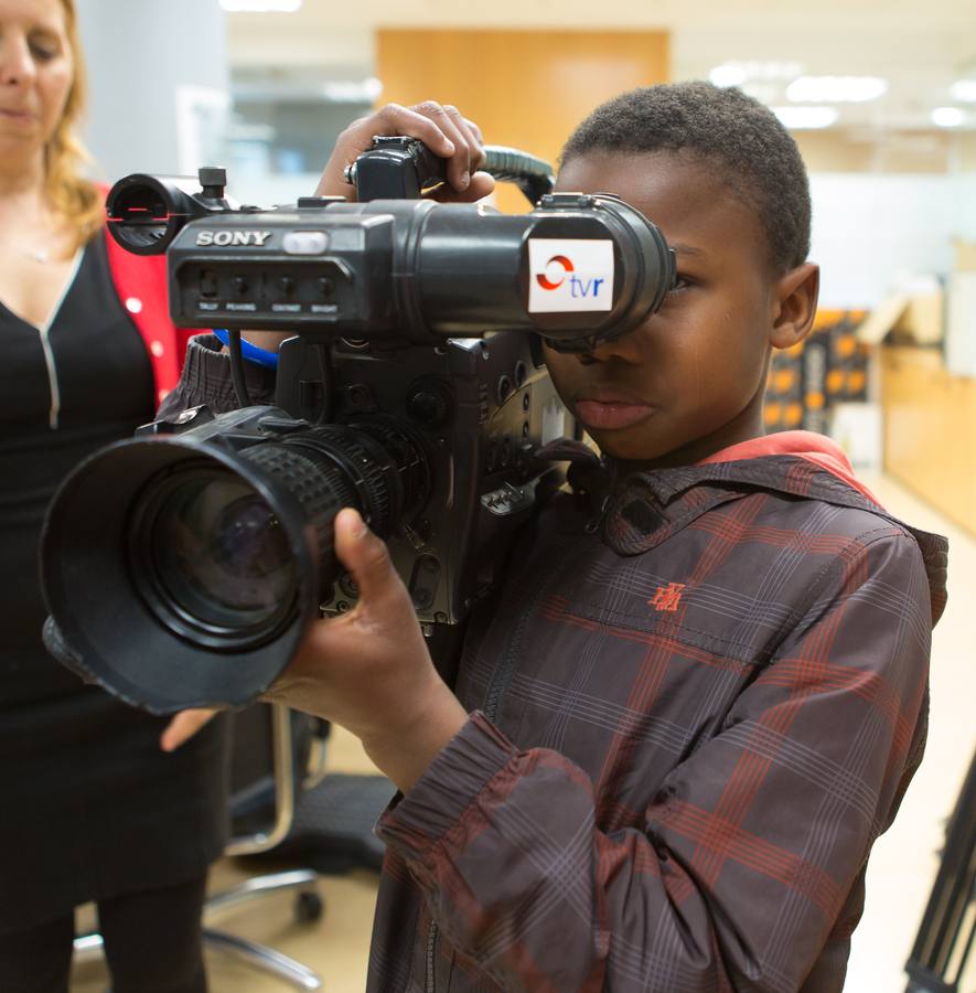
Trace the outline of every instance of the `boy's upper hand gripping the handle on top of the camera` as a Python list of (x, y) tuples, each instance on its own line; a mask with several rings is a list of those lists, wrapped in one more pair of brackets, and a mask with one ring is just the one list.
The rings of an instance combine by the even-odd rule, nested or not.
[(435, 200), (471, 203), (487, 196), (495, 181), (478, 169), (484, 162), (481, 130), (457, 107), (425, 100), (414, 107), (387, 104), (382, 110), (354, 120), (340, 136), (319, 181), (319, 196), (356, 199), (345, 169), (366, 151), (376, 136), (418, 138), (436, 156), (448, 160), (448, 182), (430, 195)]

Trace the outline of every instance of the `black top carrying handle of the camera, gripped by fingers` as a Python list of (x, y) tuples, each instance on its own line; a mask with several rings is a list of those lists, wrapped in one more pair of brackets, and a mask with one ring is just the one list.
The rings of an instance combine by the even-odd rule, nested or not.
[[(543, 159), (500, 145), (485, 146), (483, 171), (502, 182), (515, 183), (528, 202), (535, 205), (556, 184), (553, 168)], [(369, 200), (417, 200), (430, 186), (444, 182), (447, 169), (438, 158), (416, 138), (383, 137), (345, 172), (355, 184), (360, 203)]]

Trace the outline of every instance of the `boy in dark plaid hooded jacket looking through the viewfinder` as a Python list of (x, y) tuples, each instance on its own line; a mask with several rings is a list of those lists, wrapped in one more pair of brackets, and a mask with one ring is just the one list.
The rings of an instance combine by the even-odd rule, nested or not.
[[(353, 125), (320, 192), (404, 131), (450, 157), (455, 195), (486, 192), (476, 130), (437, 105)], [(592, 499), (526, 528), (453, 692), (343, 511), (360, 606), (269, 694), (348, 727), (403, 791), (377, 825), (369, 989), (836, 993), (921, 758), (945, 543), (826, 438), (761, 437), (771, 350), (809, 332), (818, 278), (769, 110), (707, 84), (625, 94), (570, 138), (559, 189), (619, 194), (677, 254), (642, 328), (547, 355), (603, 452)], [(194, 350), (184, 402), (219, 361)]]

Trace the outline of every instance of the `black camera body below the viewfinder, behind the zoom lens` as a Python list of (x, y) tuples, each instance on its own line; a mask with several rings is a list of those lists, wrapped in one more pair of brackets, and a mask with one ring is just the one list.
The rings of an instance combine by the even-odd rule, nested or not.
[[(330, 351), (328, 383), (320, 348)], [(399, 493), (376, 510), (366, 492), (356, 502), (386, 540), (423, 624), (458, 623), (493, 588), (517, 525), (562, 482), (560, 466), (539, 450), (575, 430), (538, 343), (522, 334), (389, 349), (301, 335), (281, 345), (274, 407), (216, 416), (202, 407), (176, 420), (148, 425), (137, 437), (183, 436), (243, 452), (287, 445), (318, 427), (353, 480), (357, 458), (375, 469), (390, 451), (399, 455), (403, 482), (388, 488)], [(356, 450), (346, 450), (341, 433), (330, 437), (329, 427), (357, 433)], [(361, 456), (364, 435), (386, 455), (374, 447)], [(347, 575), (321, 577), (324, 613), (342, 613), (356, 599)]]

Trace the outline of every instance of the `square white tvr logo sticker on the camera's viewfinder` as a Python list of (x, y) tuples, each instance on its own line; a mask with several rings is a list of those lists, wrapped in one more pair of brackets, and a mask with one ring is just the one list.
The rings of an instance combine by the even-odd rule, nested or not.
[(529, 313), (610, 310), (613, 243), (588, 238), (529, 238)]

